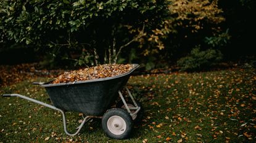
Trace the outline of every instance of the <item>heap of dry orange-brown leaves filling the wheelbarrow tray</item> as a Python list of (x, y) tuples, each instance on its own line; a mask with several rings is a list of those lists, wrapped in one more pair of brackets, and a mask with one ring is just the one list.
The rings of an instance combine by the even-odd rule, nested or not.
[(101, 79), (124, 74), (133, 68), (133, 64), (102, 64), (92, 68), (85, 68), (59, 75), (52, 83), (68, 83), (81, 80)]

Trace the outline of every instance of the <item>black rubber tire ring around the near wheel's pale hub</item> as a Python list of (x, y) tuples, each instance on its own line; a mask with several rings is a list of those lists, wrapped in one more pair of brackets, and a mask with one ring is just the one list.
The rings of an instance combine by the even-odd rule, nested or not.
[[(126, 129), (125, 129), (124, 133), (114, 134), (107, 127), (107, 122), (108, 122), (109, 118), (113, 117), (113, 116), (121, 117), (125, 121)], [(132, 128), (133, 128), (133, 120), (131, 119), (131, 116), (128, 114), (128, 112), (126, 110), (120, 109), (120, 108), (113, 108), (113, 109), (109, 109), (109, 110), (107, 110), (107, 112), (105, 112), (105, 114), (103, 115), (102, 120), (101, 120), (101, 125), (102, 125), (102, 129), (104, 130), (105, 134), (107, 134), (107, 136), (109, 136), (113, 139), (127, 139), (130, 136)]]

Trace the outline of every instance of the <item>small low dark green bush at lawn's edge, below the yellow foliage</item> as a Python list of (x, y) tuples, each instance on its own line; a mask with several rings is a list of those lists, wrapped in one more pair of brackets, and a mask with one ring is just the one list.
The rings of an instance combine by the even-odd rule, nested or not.
[(188, 56), (185, 56), (177, 61), (181, 71), (196, 71), (204, 68), (209, 68), (213, 64), (222, 59), (220, 50), (208, 49), (200, 50), (199, 47), (193, 48)]

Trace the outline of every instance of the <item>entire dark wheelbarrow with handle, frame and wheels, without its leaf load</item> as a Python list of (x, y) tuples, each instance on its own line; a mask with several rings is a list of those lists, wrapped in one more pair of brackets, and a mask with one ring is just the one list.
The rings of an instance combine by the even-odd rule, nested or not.
[[(70, 136), (78, 134), (90, 118), (102, 118), (102, 128), (107, 136), (114, 139), (125, 139), (130, 136), (133, 122), (141, 117), (142, 112), (141, 105), (134, 100), (128, 88), (125, 87), (131, 73), (138, 67), (138, 64), (133, 64), (130, 71), (115, 77), (69, 83), (34, 83), (46, 88), (53, 106), (19, 94), (4, 94), (2, 96), (18, 96), (51, 109), (59, 110), (63, 117), (64, 131)], [(123, 87), (126, 90), (126, 95), (130, 98), (129, 101), (125, 101), (122, 95), (121, 89)], [(122, 99), (122, 104), (119, 102), (115, 108), (110, 109), (118, 95)], [(76, 128), (76, 133), (71, 134), (67, 131), (66, 111), (80, 112), (86, 115), (81, 125)]]

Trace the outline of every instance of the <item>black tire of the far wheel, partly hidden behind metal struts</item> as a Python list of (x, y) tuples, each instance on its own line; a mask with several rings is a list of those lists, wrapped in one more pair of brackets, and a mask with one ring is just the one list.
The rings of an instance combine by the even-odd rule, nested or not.
[[(133, 105), (133, 101), (128, 100), (128, 101), (126, 101), (126, 104), (131, 104), (131, 105)], [(141, 120), (142, 120), (143, 114), (144, 114), (144, 109), (143, 109), (143, 106), (142, 106), (141, 102), (136, 101), (136, 104), (137, 104), (139, 107), (141, 107), (141, 109), (140, 109), (139, 112), (137, 113), (136, 118), (133, 119), (133, 122), (134, 122), (135, 124), (138, 124), (138, 123), (141, 123)], [(120, 100), (120, 101), (117, 102), (116, 107), (117, 107), (117, 108), (122, 108), (122, 109), (125, 109), (125, 110), (126, 110), (125, 105), (123, 104), (123, 101), (122, 101), (122, 100)]]

